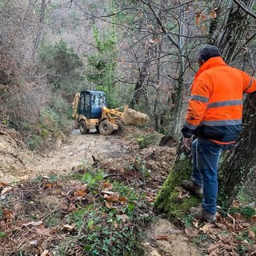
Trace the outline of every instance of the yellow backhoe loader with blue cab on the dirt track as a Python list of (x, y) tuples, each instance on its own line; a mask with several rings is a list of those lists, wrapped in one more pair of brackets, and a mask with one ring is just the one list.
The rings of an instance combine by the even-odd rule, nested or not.
[(102, 91), (84, 90), (75, 94), (73, 114), (75, 128), (81, 134), (88, 134), (90, 129), (96, 129), (102, 135), (110, 135), (114, 130), (122, 130), (122, 126), (144, 126), (149, 116), (127, 105), (117, 109), (106, 107), (106, 94)]

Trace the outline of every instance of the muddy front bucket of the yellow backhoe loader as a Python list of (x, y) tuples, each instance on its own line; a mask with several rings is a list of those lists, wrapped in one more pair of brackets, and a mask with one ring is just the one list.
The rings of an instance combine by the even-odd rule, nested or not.
[(132, 110), (128, 106), (125, 106), (121, 118), (126, 126), (144, 126), (150, 119), (147, 114)]

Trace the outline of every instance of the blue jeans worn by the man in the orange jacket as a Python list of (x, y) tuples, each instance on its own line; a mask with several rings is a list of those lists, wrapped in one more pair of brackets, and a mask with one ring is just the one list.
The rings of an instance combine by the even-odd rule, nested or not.
[(193, 170), (191, 180), (202, 186), (202, 208), (211, 214), (216, 213), (218, 195), (218, 160), (222, 150), (229, 150), (233, 144), (221, 145), (204, 138), (192, 143)]

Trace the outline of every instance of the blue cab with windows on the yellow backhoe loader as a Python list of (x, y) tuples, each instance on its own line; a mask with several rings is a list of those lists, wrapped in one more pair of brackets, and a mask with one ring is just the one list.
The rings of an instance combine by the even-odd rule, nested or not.
[(106, 106), (106, 95), (102, 91), (85, 90), (80, 93), (78, 114), (86, 118), (102, 118), (102, 107)]

